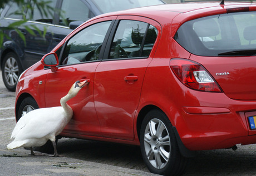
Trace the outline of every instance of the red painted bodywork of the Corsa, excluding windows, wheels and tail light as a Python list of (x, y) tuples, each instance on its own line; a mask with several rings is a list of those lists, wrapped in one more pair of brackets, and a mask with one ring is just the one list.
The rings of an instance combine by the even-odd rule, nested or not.
[[(22, 97), (28, 94), (40, 108), (53, 107), (60, 105), (60, 98), (74, 80), (90, 79), (88, 86), (68, 102), (75, 114), (61, 133), (63, 136), (139, 145), (138, 122), (143, 118), (140, 112), (147, 106), (154, 106), (168, 116), (190, 150), (255, 143), (256, 130), (250, 130), (247, 117), (256, 115), (253, 67), (256, 58), (195, 56), (173, 39), (184, 22), (227, 13), (227, 9), (235, 7), (256, 10), (256, 5), (251, 3), (168, 4), (92, 18), (63, 39), (52, 52), (86, 26), (106, 20), (131, 19), (157, 28), (157, 39), (149, 58), (61, 66), (56, 72), (43, 69), (38, 62), (19, 79), (16, 113)], [(200, 63), (223, 92), (201, 92), (184, 86), (171, 71), (172, 58)], [(227, 72), (229, 74), (225, 74)]]

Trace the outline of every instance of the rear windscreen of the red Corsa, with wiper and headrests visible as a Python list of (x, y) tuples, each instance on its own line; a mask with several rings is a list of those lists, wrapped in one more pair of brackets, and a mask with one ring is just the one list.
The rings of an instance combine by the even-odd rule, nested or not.
[[(184, 23), (174, 39), (199, 56), (243, 56), (256, 48), (256, 12), (238, 12)], [(249, 52), (249, 53), (248, 53)]]

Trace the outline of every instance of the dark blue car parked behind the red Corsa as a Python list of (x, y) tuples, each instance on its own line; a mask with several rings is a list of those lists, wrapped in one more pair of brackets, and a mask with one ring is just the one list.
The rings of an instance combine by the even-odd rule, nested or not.
[[(41, 16), (35, 7), (31, 21), (19, 27), (26, 38), (26, 43), (16, 31), (4, 31), (11, 38), (4, 39), (3, 46), (0, 48), (0, 64), (5, 86), (14, 91), (18, 77), (25, 69), (40, 61), (42, 56), (49, 53), (67, 34), (87, 19), (102, 13), (163, 3), (161, 0), (147, 2), (141, 0), (52, 0), (50, 6), (61, 9), (61, 13), (56, 10), (51, 17), (47, 18)], [(22, 20), (21, 14), (14, 13), (17, 9), (17, 4), (12, 2), (4, 7), (0, 18), (0, 30), (10, 23)], [(67, 23), (62, 19), (66, 19)], [(31, 25), (45, 33), (45, 37), (42, 37), (36, 30), (36, 36), (28, 33), (24, 26)]]

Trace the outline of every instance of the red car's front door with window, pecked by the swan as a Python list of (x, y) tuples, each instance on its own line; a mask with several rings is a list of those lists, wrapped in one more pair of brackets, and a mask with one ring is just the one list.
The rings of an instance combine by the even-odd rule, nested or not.
[(75, 98), (67, 102), (73, 109), (73, 117), (63, 134), (101, 136), (93, 98), (94, 74), (101, 62), (97, 52), (104, 42), (110, 24), (111, 21), (92, 24), (68, 39), (66, 46), (63, 46), (65, 48), (60, 56), (58, 70), (50, 71), (47, 75), (46, 107), (60, 105), (60, 99), (68, 93), (76, 81), (90, 80), (90, 83), (82, 88)]

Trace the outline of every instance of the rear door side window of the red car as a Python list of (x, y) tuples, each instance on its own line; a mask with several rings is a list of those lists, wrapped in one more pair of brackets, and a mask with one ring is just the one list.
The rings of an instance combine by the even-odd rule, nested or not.
[(149, 57), (157, 37), (151, 24), (122, 20), (111, 44), (109, 59)]

